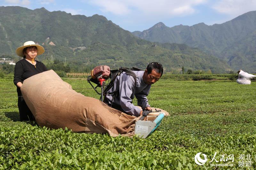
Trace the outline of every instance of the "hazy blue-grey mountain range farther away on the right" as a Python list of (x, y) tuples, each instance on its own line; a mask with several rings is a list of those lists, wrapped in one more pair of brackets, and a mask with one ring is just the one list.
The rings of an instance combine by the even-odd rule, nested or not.
[(233, 70), (255, 72), (256, 11), (250, 11), (223, 24), (208, 26), (165, 26), (159, 22), (133, 35), (152, 42), (184, 43), (226, 61)]

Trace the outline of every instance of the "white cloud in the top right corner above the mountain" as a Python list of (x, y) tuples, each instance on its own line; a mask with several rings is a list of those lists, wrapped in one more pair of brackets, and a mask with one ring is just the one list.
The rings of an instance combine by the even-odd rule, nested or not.
[(216, 11), (231, 16), (238, 16), (256, 10), (255, 0), (220, 0), (212, 7)]

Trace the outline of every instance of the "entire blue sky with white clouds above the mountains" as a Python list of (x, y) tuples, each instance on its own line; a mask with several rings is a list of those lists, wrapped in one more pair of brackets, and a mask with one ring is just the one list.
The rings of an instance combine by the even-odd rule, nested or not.
[(158, 22), (166, 26), (221, 24), (256, 10), (256, 0), (0, 0), (0, 6), (44, 7), (72, 15), (105, 16), (128, 31), (143, 31)]

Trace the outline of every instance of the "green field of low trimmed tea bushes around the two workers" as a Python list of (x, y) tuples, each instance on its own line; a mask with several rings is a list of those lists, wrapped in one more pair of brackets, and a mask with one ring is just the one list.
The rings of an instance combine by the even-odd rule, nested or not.
[[(76, 92), (100, 97), (85, 78), (63, 80)], [(0, 169), (254, 169), (255, 87), (256, 82), (160, 79), (152, 85), (149, 103), (170, 116), (149, 137), (140, 139), (20, 122), (16, 87), (11, 78), (0, 78)], [(204, 165), (195, 163), (198, 152), (207, 155)], [(212, 164), (233, 166), (211, 166), (215, 152), (219, 162)], [(233, 162), (220, 161), (222, 155), (232, 154)], [(251, 167), (245, 167), (249, 160), (239, 167), (241, 154), (251, 155)]]

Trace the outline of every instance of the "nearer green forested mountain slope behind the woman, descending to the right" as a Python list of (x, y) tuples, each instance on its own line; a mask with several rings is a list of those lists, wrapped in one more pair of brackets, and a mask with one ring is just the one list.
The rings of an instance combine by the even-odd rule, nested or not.
[(39, 60), (66, 61), (73, 71), (99, 64), (145, 68), (152, 61), (162, 63), (164, 70), (170, 72), (179, 72), (182, 67), (212, 73), (232, 69), (214, 53), (184, 43), (143, 40), (97, 14), (86, 17), (45, 8), (0, 7), (0, 53), (17, 57), (15, 49), (25, 41), (35, 41), (45, 48)]

